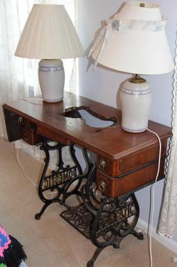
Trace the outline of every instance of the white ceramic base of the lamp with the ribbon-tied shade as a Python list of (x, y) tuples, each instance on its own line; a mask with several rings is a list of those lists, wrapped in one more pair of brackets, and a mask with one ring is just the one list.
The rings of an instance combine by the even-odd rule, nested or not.
[(148, 126), (151, 107), (151, 89), (147, 81), (125, 81), (120, 94), (122, 129), (127, 132), (144, 132)]

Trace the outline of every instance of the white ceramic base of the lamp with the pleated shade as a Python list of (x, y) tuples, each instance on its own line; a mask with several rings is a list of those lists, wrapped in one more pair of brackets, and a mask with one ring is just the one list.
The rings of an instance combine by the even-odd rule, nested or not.
[(61, 59), (39, 61), (39, 85), (46, 102), (59, 102), (64, 97), (64, 66)]

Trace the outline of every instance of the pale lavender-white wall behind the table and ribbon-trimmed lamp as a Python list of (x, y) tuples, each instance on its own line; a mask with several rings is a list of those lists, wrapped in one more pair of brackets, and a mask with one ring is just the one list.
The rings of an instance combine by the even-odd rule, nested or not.
[[(78, 25), (79, 35), (85, 50), (93, 41), (95, 32), (100, 28), (101, 21), (111, 17), (121, 6), (122, 0), (77, 0), (78, 7)], [(175, 38), (176, 38), (176, 22), (177, 22), (177, 1), (174, 0), (155, 0), (160, 5), (160, 10), (168, 19), (166, 32), (171, 54), (174, 57)], [(88, 68), (88, 59), (80, 59), (80, 95), (95, 99), (110, 106), (116, 106), (116, 93), (119, 85), (129, 75), (112, 70), (104, 70), (97, 67), (93, 71), (93, 66)], [(152, 89), (152, 106), (150, 119), (158, 121), (165, 125), (171, 123), (171, 98), (172, 98), (172, 75), (154, 75), (147, 76), (145, 79), (149, 81)], [(156, 186), (156, 208), (153, 226), (156, 227), (158, 222), (158, 214), (162, 198), (163, 181), (158, 182)], [(148, 221), (149, 217), (149, 188), (140, 190), (137, 194), (140, 203), (140, 217)], [(177, 241), (177, 237), (174, 237)]]

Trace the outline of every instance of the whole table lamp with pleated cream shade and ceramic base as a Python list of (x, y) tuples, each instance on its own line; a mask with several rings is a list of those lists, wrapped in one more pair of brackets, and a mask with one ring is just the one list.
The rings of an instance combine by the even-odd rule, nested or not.
[(17, 57), (41, 59), (39, 85), (47, 102), (64, 95), (64, 66), (61, 59), (82, 57), (84, 50), (64, 6), (35, 4), (21, 33)]

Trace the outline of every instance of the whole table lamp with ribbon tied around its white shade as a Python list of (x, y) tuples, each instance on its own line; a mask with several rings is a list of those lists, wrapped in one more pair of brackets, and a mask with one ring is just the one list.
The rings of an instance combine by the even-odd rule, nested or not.
[(140, 75), (158, 75), (174, 68), (165, 23), (157, 4), (128, 1), (106, 21), (88, 55), (95, 59), (95, 66), (100, 63), (133, 74), (120, 93), (122, 128), (128, 132), (144, 132), (148, 126), (151, 89)]

